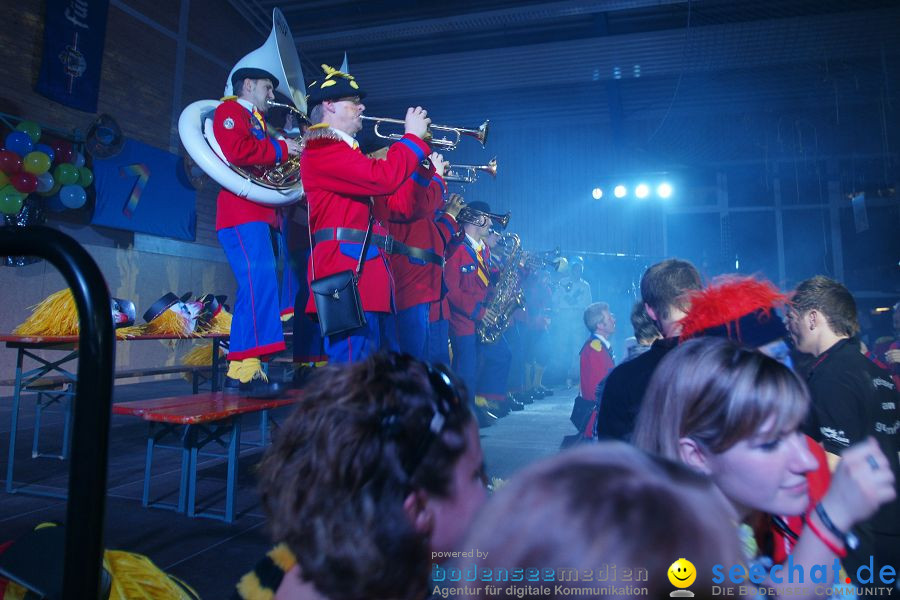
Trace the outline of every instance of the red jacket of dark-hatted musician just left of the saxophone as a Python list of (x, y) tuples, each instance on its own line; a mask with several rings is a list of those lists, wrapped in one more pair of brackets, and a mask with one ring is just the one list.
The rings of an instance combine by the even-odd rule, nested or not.
[[(447, 300), (450, 303), (450, 331), (454, 335), (475, 333), (475, 321), (484, 318), (484, 299), (488, 285), (478, 275), (478, 259), (469, 238), (457, 248), (444, 267)], [(491, 264), (491, 251), (485, 246), (483, 260)], [(489, 266), (487, 268), (490, 268)], [(490, 273), (487, 274), (490, 276)]]

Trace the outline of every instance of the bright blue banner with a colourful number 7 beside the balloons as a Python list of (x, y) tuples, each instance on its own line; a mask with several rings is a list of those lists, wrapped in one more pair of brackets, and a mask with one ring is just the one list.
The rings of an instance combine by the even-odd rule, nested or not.
[(197, 194), (180, 156), (125, 140), (112, 158), (94, 160), (93, 225), (193, 241)]

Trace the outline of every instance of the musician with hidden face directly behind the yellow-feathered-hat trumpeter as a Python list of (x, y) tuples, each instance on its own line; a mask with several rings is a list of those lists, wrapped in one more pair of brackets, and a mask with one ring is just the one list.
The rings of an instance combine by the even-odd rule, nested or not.
[[(443, 173), (448, 163), (437, 152), (430, 159), (435, 173), (411, 217), (390, 214), (386, 222), (395, 240), (390, 265), (396, 288), (400, 350), (421, 360), (429, 359), (430, 308), (443, 295), (444, 252), (459, 233), (456, 215), (462, 207), (456, 194), (444, 203), (447, 184)], [(412, 179), (417, 178), (416, 173)], [(446, 346), (446, 335), (443, 343)]]

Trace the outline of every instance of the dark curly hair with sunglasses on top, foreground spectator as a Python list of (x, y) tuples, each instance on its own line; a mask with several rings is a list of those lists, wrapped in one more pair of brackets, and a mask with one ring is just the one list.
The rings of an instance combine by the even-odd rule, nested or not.
[(461, 386), (397, 354), (324, 367), (308, 384), (260, 465), (260, 490), (275, 541), (320, 593), (413, 598), (426, 588), (428, 540), (403, 503), (414, 490), (451, 492), (472, 420)]

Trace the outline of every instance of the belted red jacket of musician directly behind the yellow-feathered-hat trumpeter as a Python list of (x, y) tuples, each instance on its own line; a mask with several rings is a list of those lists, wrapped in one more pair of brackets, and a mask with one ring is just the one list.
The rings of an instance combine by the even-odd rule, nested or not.
[[(444, 256), (450, 239), (456, 235), (459, 226), (456, 219), (441, 212), (444, 204), (446, 185), (440, 175), (435, 174), (430, 185), (422, 188), (420, 173), (413, 175), (417, 190), (417, 201), (412, 218), (390, 215), (388, 231), (398, 241), (407, 246), (428, 250)], [(427, 180), (426, 180), (427, 181)], [(441, 265), (412, 258), (403, 254), (390, 255), (391, 272), (394, 274), (397, 310), (404, 310), (417, 304), (437, 302), (441, 299), (444, 269)]]

